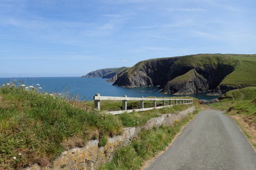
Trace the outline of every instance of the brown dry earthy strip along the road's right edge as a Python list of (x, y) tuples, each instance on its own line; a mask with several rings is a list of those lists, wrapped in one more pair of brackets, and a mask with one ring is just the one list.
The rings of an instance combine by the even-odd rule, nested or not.
[(256, 124), (253, 122), (253, 118), (241, 115), (231, 115), (230, 117), (238, 122), (241, 130), (246, 134), (256, 152)]

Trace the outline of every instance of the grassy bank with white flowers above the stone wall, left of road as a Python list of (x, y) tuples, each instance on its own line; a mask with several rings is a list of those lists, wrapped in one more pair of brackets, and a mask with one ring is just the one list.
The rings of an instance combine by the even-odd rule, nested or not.
[[(102, 108), (120, 109), (120, 105), (106, 103)], [(0, 169), (19, 169), (35, 163), (47, 166), (64, 150), (82, 147), (90, 139), (101, 141), (122, 133), (122, 127), (142, 125), (152, 117), (188, 107), (114, 116), (94, 110), (92, 102), (66, 101), (36, 89), (6, 85), (0, 87)], [(103, 140), (100, 145), (104, 146)]]

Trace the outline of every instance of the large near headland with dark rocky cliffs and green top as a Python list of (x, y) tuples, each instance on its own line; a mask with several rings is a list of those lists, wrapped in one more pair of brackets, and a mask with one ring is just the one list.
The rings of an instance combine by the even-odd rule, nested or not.
[(116, 74), (113, 85), (151, 87), (163, 94), (209, 92), (256, 86), (256, 55), (198, 54), (150, 59)]

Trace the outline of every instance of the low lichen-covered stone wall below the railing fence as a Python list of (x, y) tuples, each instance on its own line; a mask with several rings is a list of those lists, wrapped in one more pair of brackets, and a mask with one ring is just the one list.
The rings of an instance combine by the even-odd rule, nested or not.
[(161, 117), (155, 117), (148, 120), (145, 125), (138, 127), (124, 128), (124, 133), (120, 136), (108, 138), (108, 143), (99, 148), (99, 140), (90, 140), (83, 148), (73, 148), (61, 153), (51, 166), (40, 167), (37, 164), (26, 170), (47, 170), (47, 169), (98, 169), (99, 166), (113, 159), (115, 150), (128, 145), (132, 139), (138, 137), (141, 129), (150, 130), (153, 127), (161, 125), (172, 125), (175, 120), (182, 120), (189, 113), (195, 111), (195, 106), (192, 106), (184, 111), (179, 111), (172, 114), (164, 114)]

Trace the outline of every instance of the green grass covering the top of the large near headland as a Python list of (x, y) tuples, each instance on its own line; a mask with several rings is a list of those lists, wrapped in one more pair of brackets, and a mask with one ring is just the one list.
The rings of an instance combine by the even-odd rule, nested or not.
[[(138, 62), (133, 67), (127, 69), (123, 74), (132, 76), (138, 69), (141, 69), (147, 62), (152, 60), (164, 60), (167, 58), (150, 59)], [(243, 87), (256, 86), (256, 55), (243, 55), (243, 54), (198, 54), (198, 55), (186, 55), (180, 57), (173, 64), (175, 66), (189, 66), (200, 67), (201, 69), (207, 69), (211, 66), (214, 69), (218, 69), (218, 66), (225, 64), (234, 67), (234, 71), (228, 74), (220, 85), (236, 86), (241, 85)], [(188, 76), (182, 76), (180, 79), (188, 79)]]

